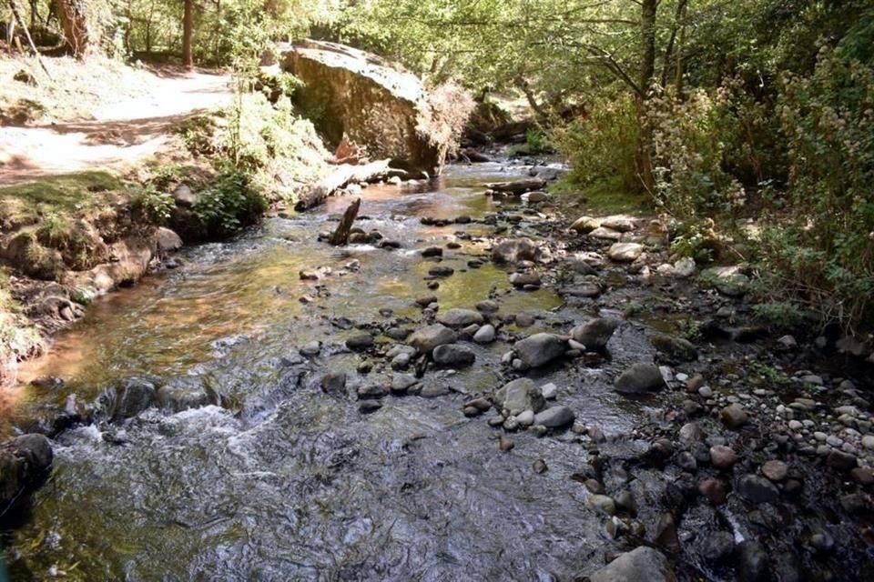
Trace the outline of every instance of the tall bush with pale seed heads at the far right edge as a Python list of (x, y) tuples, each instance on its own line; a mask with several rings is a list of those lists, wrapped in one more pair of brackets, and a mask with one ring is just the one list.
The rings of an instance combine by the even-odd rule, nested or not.
[(778, 113), (788, 201), (762, 236), (775, 289), (848, 326), (874, 324), (874, 67), (824, 48), (808, 78), (787, 76)]

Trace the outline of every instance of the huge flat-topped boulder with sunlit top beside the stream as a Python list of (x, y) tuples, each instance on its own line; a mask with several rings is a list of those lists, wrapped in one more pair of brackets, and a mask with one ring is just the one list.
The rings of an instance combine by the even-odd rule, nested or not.
[(295, 100), (330, 142), (346, 135), (371, 158), (432, 176), (473, 110), (461, 91), (429, 95), (415, 75), (350, 46), (308, 40), (288, 48), (281, 66), (303, 82)]

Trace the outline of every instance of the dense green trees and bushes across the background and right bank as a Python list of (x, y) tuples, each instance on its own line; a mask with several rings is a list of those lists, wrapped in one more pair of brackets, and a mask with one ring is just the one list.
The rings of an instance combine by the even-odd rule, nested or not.
[(532, 135), (571, 161), (572, 187), (645, 197), (676, 219), (677, 253), (746, 261), (777, 299), (874, 320), (864, 0), (101, 0), (72, 11), (89, 31), (74, 39), (80, 4), (20, 11), (80, 55), (251, 68), (274, 41), (310, 34), (483, 101), (516, 91)]

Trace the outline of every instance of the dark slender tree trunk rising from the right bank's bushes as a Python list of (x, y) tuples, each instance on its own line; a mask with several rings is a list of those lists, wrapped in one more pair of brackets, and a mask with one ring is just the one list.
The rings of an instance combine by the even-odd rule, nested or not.
[(640, 89), (637, 95), (637, 174), (647, 192), (655, 188), (653, 177), (652, 142), (653, 131), (646, 119), (646, 105), (655, 76), (655, 14), (659, 0), (643, 0), (641, 4), (641, 33), (643, 36), (643, 61), (640, 66)]

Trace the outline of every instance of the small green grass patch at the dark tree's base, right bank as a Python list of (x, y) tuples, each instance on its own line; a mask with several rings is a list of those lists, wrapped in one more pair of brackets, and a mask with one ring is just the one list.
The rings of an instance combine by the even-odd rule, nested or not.
[(618, 176), (599, 180), (589, 186), (578, 186), (563, 178), (558, 184), (551, 186), (550, 191), (559, 196), (563, 205), (573, 207), (581, 215), (655, 214), (655, 206), (649, 196), (629, 192), (622, 186), (622, 180)]

